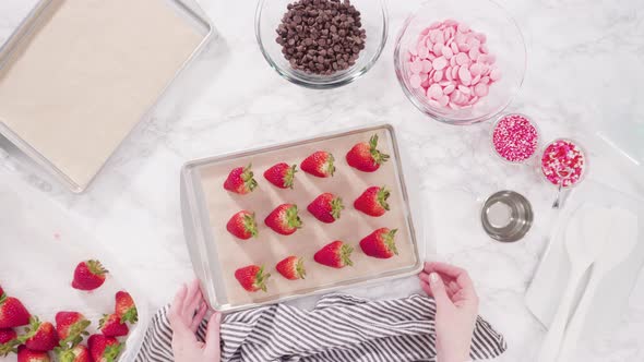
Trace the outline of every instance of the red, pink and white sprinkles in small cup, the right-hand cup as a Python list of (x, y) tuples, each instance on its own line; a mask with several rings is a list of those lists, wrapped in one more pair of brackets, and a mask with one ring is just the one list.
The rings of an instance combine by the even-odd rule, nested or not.
[(544, 150), (541, 171), (552, 184), (571, 186), (582, 179), (586, 170), (586, 156), (582, 148), (569, 140), (557, 140)]

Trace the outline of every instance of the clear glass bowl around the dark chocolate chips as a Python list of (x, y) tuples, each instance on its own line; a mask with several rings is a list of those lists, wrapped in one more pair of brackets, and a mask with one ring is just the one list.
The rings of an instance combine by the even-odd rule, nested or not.
[(282, 53), (282, 46), (276, 41), (277, 26), (287, 11), (286, 7), (293, 2), (295, 0), (260, 0), (255, 12), (255, 36), (262, 55), (287, 81), (314, 89), (335, 88), (367, 73), (380, 58), (389, 26), (385, 0), (351, 0), (350, 3), (360, 12), (362, 28), (367, 33), (366, 47), (360, 51), (356, 63), (331, 75), (307, 74), (293, 69)]

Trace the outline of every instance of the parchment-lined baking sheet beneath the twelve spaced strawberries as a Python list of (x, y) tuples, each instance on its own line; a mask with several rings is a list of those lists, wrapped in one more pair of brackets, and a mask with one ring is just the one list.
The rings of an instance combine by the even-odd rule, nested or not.
[[(373, 173), (350, 168), (345, 160), (348, 149), (358, 142), (368, 141), (374, 133), (379, 134), (381, 150), (392, 156), (390, 161)], [(291, 146), (249, 152), (239, 157), (229, 156), (187, 165), (187, 169), (192, 169), (196, 189), (192, 193), (196, 195), (192, 202), (201, 200), (202, 213), (206, 216), (205, 236), (195, 236), (194, 232), (187, 230), (187, 237), (189, 244), (194, 243), (195, 240), (199, 243), (200, 239), (205, 243), (192, 254), (202, 254), (201, 257), (193, 255), (196, 273), (205, 282), (212, 282), (216, 290), (216, 300), (211, 302), (224, 311), (235, 310), (281, 301), (293, 295), (314, 293), (327, 288), (416, 273), (420, 267), (420, 253), (394, 137), (391, 126), (370, 128), (311, 142), (300, 142)], [(334, 154), (337, 168), (335, 177), (319, 179), (299, 171), (296, 176), (295, 190), (279, 190), (263, 178), (263, 171), (274, 164), (285, 161), (299, 166), (303, 158), (320, 149)], [(235, 195), (225, 191), (223, 184), (229, 171), (250, 162), (253, 165), (260, 188), (249, 195)], [(369, 217), (353, 207), (354, 200), (370, 185), (387, 185), (392, 190), (390, 197), (392, 210), (380, 218)], [(323, 192), (339, 195), (346, 207), (342, 218), (331, 225), (318, 221), (306, 209), (307, 205)], [(191, 192), (184, 190), (184, 198), (190, 202), (188, 194)], [(285, 237), (267, 228), (263, 220), (274, 207), (286, 202), (298, 205), (305, 226), (293, 236)], [(226, 222), (240, 209), (257, 213), (260, 227), (258, 239), (240, 241), (226, 231)], [(189, 216), (184, 221), (192, 224), (193, 216)], [(390, 260), (377, 260), (366, 256), (360, 250), (359, 241), (381, 227), (398, 229), (396, 245), (399, 255)], [(334, 240), (343, 240), (355, 248), (351, 257), (355, 264), (353, 267), (333, 269), (313, 261), (313, 254)], [(290, 281), (277, 274), (274, 265), (288, 255), (305, 257), (307, 279)], [(249, 293), (235, 279), (235, 270), (250, 264), (263, 264), (267, 272), (272, 273), (266, 293)]]

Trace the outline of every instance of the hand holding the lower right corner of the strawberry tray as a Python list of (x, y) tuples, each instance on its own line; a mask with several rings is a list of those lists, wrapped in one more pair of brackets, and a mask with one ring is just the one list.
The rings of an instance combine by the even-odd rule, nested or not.
[(425, 263), (420, 287), (436, 300), (437, 353), (441, 362), (469, 361), (469, 348), (478, 316), (478, 297), (464, 269)]

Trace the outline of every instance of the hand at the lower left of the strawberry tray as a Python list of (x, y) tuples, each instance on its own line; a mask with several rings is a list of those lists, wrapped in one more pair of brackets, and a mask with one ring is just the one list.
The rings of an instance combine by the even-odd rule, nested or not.
[(203, 299), (199, 280), (190, 286), (183, 285), (177, 294), (168, 319), (172, 327), (172, 352), (176, 362), (219, 362), (222, 359), (219, 346), (219, 326), (222, 314), (213, 313), (208, 319), (205, 342), (196, 338), (195, 331), (208, 310)]

